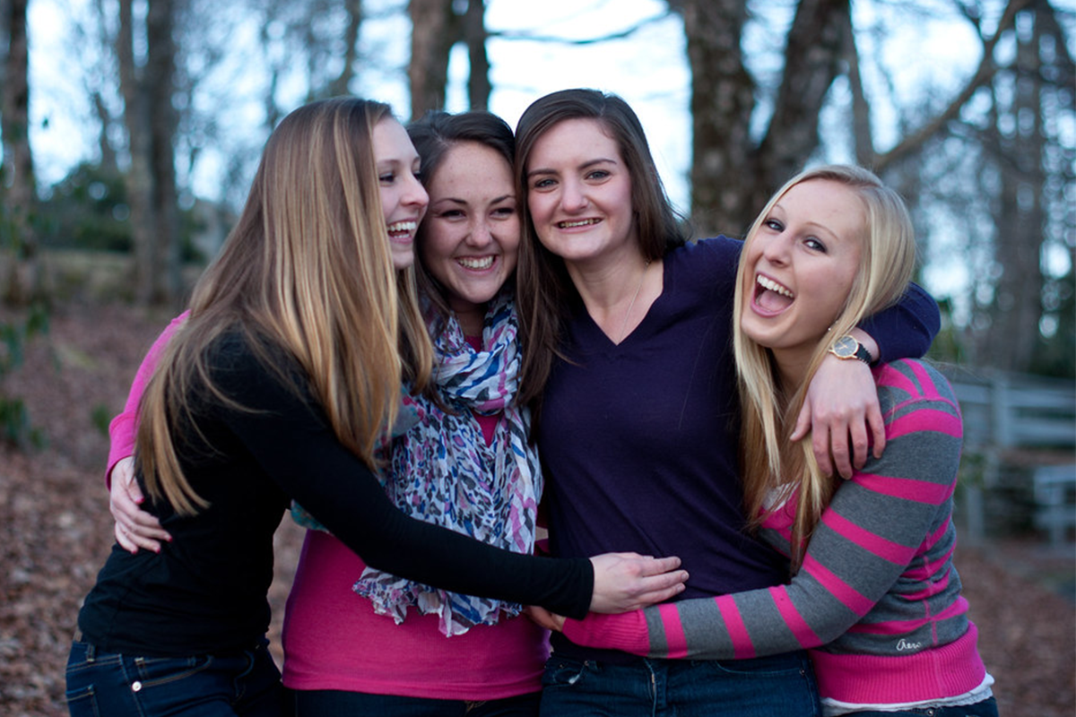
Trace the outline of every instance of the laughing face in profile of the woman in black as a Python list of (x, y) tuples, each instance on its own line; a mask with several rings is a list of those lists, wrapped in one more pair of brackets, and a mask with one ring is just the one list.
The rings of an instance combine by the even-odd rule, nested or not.
[(393, 267), (414, 262), (414, 235), (429, 198), (419, 183), (419, 153), (404, 127), (391, 117), (373, 126), (373, 161), (378, 168), (381, 209), (388, 225)]

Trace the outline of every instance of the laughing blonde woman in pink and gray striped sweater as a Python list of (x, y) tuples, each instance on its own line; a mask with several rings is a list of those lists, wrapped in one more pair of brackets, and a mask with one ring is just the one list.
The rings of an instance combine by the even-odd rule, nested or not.
[(900, 197), (854, 167), (794, 177), (748, 234), (734, 314), (745, 492), (759, 535), (790, 558), (788, 585), (539, 617), (577, 644), (651, 657), (809, 648), (827, 717), (996, 717), (952, 564), (962, 426), (949, 384), (921, 361), (874, 367), (886, 449), (848, 482), (788, 439), (819, 362), (859, 358), (845, 334), (901, 297), (914, 263)]

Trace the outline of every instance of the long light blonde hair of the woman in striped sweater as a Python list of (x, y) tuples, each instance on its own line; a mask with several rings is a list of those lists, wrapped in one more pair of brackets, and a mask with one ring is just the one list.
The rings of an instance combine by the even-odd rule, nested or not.
[(862, 250), (855, 278), (830, 332), (815, 348), (799, 386), (781, 386), (769, 349), (744, 333), (740, 316), (753, 291), (754, 275), (742, 259), (736, 275), (733, 309), (733, 341), (742, 405), (740, 451), (746, 508), (758, 526), (767, 504), (779, 506), (798, 489), (792, 532), (794, 571), (836, 489), (835, 479), (819, 470), (810, 440), (795, 444), (789, 440), (807, 387), (825, 358), (832, 338), (848, 333), (865, 317), (896, 303), (911, 281), (916, 263), (915, 230), (901, 197), (867, 170), (844, 164), (807, 170), (781, 187), (751, 225), (741, 257), (747, 256), (774, 205), (789, 189), (816, 180), (836, 182), (854, 191), (864, 209), (864, 226), (859, 236)]

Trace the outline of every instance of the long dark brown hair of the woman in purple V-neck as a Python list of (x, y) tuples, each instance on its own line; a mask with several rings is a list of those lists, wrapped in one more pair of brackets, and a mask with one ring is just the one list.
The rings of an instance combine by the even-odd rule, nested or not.
[(553, 361), (562, 353), (568, 307), (579, 301), (564, 260), (542, 246), (527, 206), (527, 162), (541, 137), (565, 119), (594, 119), (617, 143), (632, 177), (632, 209), (638, 225), (639, 249), (648, 261), (661, 259), (684, 243), (642, 123), (617, 95), (596, 89), (565, 89), (535, 100), (515, 126), (515, 190), (523, 212), (523, 236), (516, 270), (516, 302), (523, 372), (520, 400), (533, 408), (534, 426), (541, 414), (541, 393)]

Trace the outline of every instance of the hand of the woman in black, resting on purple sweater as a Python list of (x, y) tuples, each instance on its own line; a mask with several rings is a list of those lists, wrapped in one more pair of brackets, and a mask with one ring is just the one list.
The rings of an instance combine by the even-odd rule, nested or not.
[(594, 596), (591, 612), (626, 613), (681, 592), (688, 571), (680, 558), (652, 558), (637, 553), (607, 553), (591, 558)]

